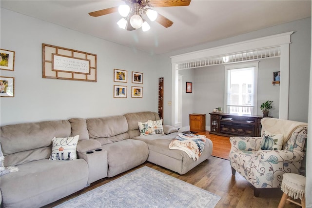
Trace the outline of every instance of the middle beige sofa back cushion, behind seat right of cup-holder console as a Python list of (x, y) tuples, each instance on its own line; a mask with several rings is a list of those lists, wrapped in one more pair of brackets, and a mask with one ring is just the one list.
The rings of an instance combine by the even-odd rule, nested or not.
[(87, 119), (90, 139), (98, 140), (101, 145), (129, 139), (128, 123), (124, 116), (111, 116)]

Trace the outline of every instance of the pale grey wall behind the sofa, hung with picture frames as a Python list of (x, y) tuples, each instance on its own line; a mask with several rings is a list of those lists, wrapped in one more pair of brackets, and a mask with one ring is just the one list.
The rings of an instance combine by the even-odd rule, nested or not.
[[(0, 98), (0, 124), (73, 117), (101, 117), (156, 111), (157, 86), (153, 57), (49, 22), (1, 8), (1, 48), (15, 51), (15, 97)], [(98, 82), (42, 78), (41, 43), (98, 55)], [(139, 57), (139, 58), (138, 58)], [(113, 81), (114, 68), (128, 71), (128, 83)], [(131, 83), (131, 72), (143, 73), (143, 84)], [(113, 98), (113, 86), (128, 86), (128, 98)], [(131, 98), (131, 86), (143, 86), (143, 98)]]

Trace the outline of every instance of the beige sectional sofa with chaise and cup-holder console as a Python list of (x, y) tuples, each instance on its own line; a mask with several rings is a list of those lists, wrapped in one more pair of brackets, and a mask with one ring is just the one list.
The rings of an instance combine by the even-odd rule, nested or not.
[[(139, 136), (138, 122), (147, 120), (159, 116), (138, 112), (1, 126), (4, 166), (19, 168), (0, 177), (1, 206), (41, 207), (146, 160), (184, 174), (211, 156), (209, 139), (198, 161), (184, 151), (169, 149), (178, 134), (172, 126), (163, 126), (166, 134)], [(77, 160), (49, 160), (53, 137), (76, 135)]]

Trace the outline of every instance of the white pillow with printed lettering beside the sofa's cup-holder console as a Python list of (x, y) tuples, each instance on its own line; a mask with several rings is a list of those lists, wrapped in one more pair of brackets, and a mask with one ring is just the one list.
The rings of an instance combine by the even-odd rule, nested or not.
[(76, 160), (79, 135), (74, 137), (54, 137), (50, 160)]

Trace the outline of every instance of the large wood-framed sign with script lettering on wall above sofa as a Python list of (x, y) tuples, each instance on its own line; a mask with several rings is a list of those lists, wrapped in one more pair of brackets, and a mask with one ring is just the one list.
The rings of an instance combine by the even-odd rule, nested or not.
[(42, 78), (97, 82), (97, 55), (42, 43)]

